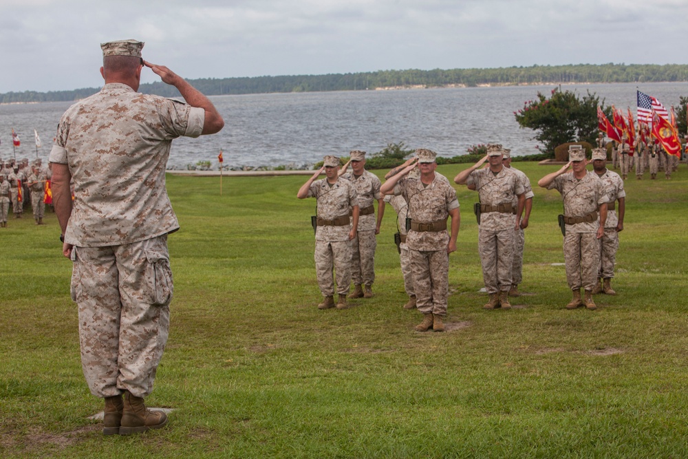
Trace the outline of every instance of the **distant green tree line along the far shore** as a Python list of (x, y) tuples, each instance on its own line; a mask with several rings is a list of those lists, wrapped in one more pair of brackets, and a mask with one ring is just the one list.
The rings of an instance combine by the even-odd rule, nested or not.
[[(450, 85), (528, 85), (538, 83), (649, 83), (688, 81), (688, 65), (533, 65), (495, 69), (380, 70), (355, 74), (255, 76), (189, 80), (208, 96), (274, 92), (358, 91), (378, 87), (444, 87)], [(78, 100), (100, 88), (72, 91), (7, 92), (0, 103)], [(140, 92), (177, 97), (174, 87), (162, 82), (141, 85)]]

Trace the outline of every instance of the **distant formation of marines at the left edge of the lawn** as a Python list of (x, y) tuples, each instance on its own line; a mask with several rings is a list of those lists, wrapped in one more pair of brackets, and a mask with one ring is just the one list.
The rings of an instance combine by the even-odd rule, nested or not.
[(26, 196), (31, 198), (31, 208), (36, 224), (43, 224), (45, 183), (50, 180), (50, 175), (50, 169), (43, 167), (40, 158), (30, 165), (28, 158), (18, 162), (13, 160), (0, 162), (0, 228), (7, 228), (10, 202), (14, 218), (21, 218)]

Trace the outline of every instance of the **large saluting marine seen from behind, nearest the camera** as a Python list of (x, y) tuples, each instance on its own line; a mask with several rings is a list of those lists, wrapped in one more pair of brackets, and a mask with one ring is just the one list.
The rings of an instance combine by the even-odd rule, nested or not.
[[(224, 126), (197, 89), (167, 67), (145, 62), (143, 45), (101, 45), (105, 85), (67, 109), (50, 152), (63, 255), (74, 263), (81, 363), (91, 393), (105, 398), (106, 435), (167, 423), (164, 412), (144, 405), (169, 330), (167, 235), (179, 229), (165, 166), (174, 138)], [(186, 103), (137, 93), (144, 65)]]

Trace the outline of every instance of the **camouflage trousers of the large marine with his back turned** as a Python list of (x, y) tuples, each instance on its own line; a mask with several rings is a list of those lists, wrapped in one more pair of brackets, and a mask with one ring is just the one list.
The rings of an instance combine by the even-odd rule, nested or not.
[(153, 390), (173, 295), (166, 240), (163, 235), (72, 250), (81, 365), (95, 396), (114, 396), (126, 389), (145, 397)]

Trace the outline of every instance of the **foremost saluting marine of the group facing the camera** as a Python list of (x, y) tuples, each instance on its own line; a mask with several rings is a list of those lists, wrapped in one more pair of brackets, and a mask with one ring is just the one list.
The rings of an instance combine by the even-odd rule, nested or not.
[[(409, 203), (410, 227), (406, 243), (411, 255), (416, 307), (423, 314), (422, 323), (416, 325), (418, 332), (430, 328), (444, 331), (442, 320), (447, 315), (449, 296), (449, 254), (456, 250), (460, 226), (456, 191), (436, 176), (436, 156), (427, 149), (416, 150), (420, 177), (408, 176), (416, 167), (413, 161), (381, 187), (383, 194), (403, 195)], [(447, 233), (450, 216), (451, 235)]]

